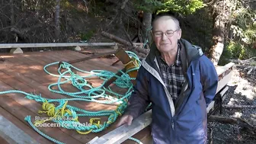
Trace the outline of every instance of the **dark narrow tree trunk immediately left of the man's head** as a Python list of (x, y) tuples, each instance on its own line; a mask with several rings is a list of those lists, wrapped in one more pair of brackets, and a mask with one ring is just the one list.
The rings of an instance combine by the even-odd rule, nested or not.
[(152, 43), (152, 37), (151, 37), (151, 34), (149, 34), (151, 27), (152, 27), (152, 13), (144, 12), (143, 13), (143, 22), (142, 22), (143, 43), (145, 43), (146, 40), (149, 40), (148, 42)]

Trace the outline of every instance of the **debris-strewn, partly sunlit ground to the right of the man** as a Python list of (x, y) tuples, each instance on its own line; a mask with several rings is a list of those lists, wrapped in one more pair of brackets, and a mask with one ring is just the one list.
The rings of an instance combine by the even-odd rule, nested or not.
[[(256, 81), (249, 81), (242, 74), (241, 69), (235, 68), (232, 71), (232, 78), (229, 81), (229, 90), (222, 104), (255, 105), (256, 104)], [(216, 111), (217, 116), (240, 117), (256, 126), (256, 108), (222, 109), (222, 114)], [(212, 133), (212, 135), (210, 134)], [(213, 141), (209, 144), (256, 144), (256, 134), (245, 132), (242, 127), (231, 124), (208, 122), (208, 137), (212, 136)]]

